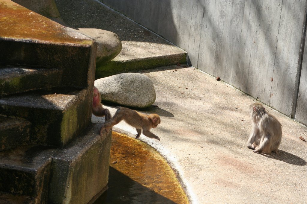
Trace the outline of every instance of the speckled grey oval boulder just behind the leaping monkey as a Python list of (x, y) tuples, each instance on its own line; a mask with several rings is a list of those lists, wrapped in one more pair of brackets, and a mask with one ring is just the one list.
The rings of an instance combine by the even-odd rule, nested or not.
[(123, 73), (97, 79), (102, 100), (135, 108), (146, 108), (156, 100), (153, 82), (144, 74)]

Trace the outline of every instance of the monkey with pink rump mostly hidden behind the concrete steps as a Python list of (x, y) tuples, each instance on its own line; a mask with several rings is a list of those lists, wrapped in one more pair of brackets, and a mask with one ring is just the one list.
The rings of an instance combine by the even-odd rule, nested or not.
[(98, 117), (106, 116), (105, 121), (111, 119), (109, 109), (103, 108), (99, 90), (94, 86), (92, 113)]

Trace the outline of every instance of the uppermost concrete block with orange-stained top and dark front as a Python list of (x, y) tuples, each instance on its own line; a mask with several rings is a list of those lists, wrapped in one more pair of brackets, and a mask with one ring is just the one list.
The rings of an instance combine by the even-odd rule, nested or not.
[(96, 44), (19, 4), (0, 4), (0, 62), (63, 70), (62, 86), (90, 86), (95, 76)]

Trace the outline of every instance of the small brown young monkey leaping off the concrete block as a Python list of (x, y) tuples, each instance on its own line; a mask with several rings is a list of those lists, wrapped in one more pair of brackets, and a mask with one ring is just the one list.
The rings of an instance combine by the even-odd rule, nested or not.
[(160, 141), (160, 138), (157, 135), (150, 132), (150, 128), (156, 128), (158, 124), (160, 124), (161, 119), (159, 115), (147, 115), (123, 107), (119, 107), (119, 109), (115, 112), (113, 118), (103, 124), (100, 129), (100, 135), (102, 135), (103, 130), (108, 131), (111, 127), (113, 127), (122, 120), (125, 120), (126, 123), (136, 128), (136, 131), (138, 132), (138, 134), (136, 135), (136, 139), (140, 137), (143, 131), (143, 134), (145, 136), (149, 138), (155, 138)]

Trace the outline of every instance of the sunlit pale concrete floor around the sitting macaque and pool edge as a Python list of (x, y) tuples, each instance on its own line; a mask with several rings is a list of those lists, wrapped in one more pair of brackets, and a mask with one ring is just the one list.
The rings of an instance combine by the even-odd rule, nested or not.
[[(161, 141), (140, 140), (169, 161), (191, 203), (307, 203), (305, 126), (266, 107), (283, 125), (282, 143), (279, 154), (256, 154), (246, 147), (254, 98), (194, 67), (140, 73), (153, 80), (158, 106), (141, 112), (161, 116), (152, 130)], [(136, 135), (125, 122), (113, 130)]]

